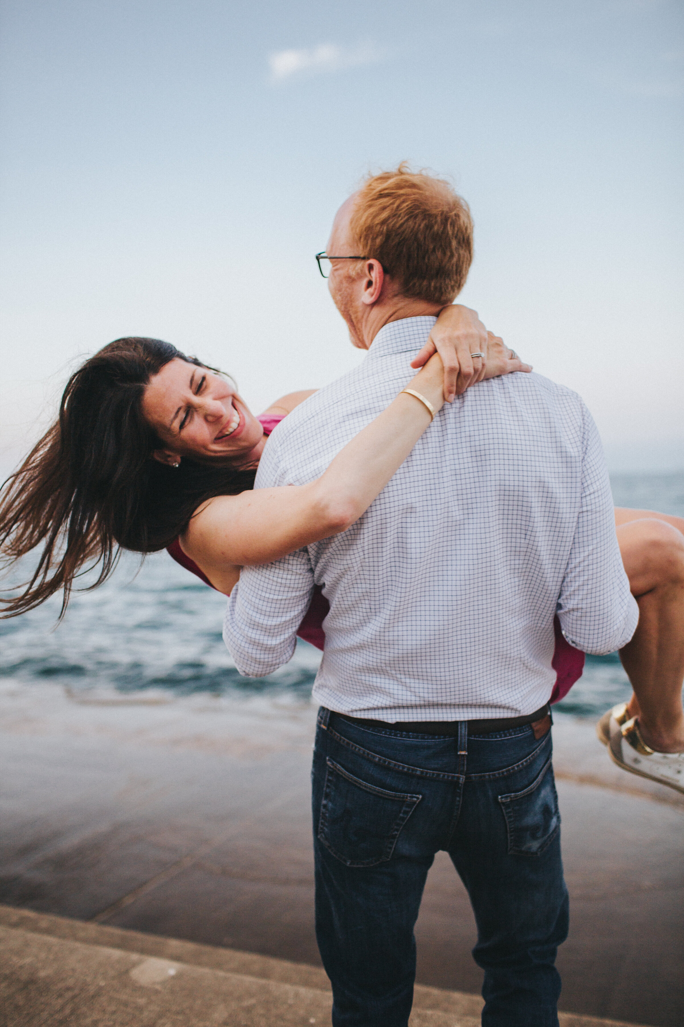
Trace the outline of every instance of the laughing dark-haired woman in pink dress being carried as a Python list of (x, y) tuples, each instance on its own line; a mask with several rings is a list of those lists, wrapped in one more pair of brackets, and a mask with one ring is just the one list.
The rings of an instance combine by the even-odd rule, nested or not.
[[(457, 321), (456, 310), (448, 308), (442, 318)], [(448, 353), (450, 346), (452, 354), (462, 352), (461, 329), (447, 330), (446, 335), (446, 342), (439, 340), (442, 351)], [(471, 383), (485, 374), (529, 370), (500, 340), (490, 337), (490, 342), (488, 367), (482, 360)], [(469, 342), (466, 349), (471, 346)], [(431, 359), (409, 387), (439, 409), (443, 403), (439, 359)], [(447, 391), (453, 391), (451, 384)], [(72, 376), (58, 422), (5, 489), (0, 505), (0, 544), (5, 558), (13, 562), (41, 543), (43, 549), (23, 591), (2, 601), (4, 615), (32, 609), (61, 589), (64, 613), (76, 575), (88, 564), (100, 564), (95, 582), (99, 584), (112, 572), (119, 546), (139, 553), (169, 547), (178, 562), (230, 594), (241, 566), (276, 560), (346, 530), (381, 491), (432, 417), (420, 398), (402, 392), (345, 447), (318, 481), (250, 492), (265, 427), (271, 430), (308, 394), (284, 396), (257, 419), (225, 378), (167, 343), (124, 339), (106, 346)], [(618, 536), (629, 532), (620, 546), (623, 557), (627, 553), (628, 574), (631, 582), (634, 579), (640, 605), (648, 607), (651, 620), (653, 616), (656, 621), (658, 616), (673, 620), (673, 538), (681, 539), (680, 526), (644, 520), (639, 511), (617, 511), (616, 516)], [(658, 561), (652, 559), (654, 536), (658, 532), (662, 536), (663, 531), (673, 537), (656, 541), (662, 557)], [(656, 594), (659, 605), (652, 601)], [(321, 647), (325, 609), (323, 597), (317, 596), (300, 629), (303, 637)], [(675, 611), (673, 623), (676, 620)], [(653, 716), (649, 721), (649, 713), (657, 710), (662, 691), (661, 679), (653, 673), (659, 649), (656, 646), (657, 651), (650, 652), (649, 647), (653, 649), (650, 636), (626, 647), (630, 650), (626, 662), (631, 658), (633, 664), (628, 670), (635, 688), (640, 689), (639, 702), (633, 696), (627, 711), (611, 711), (607, 720), (603, 718), (603, 740), (619, 730), (620, 737), (632, 745), (625, 724), (632, 724), (637, 737), (638, 723), (632, 721), (637, 716), (648, 740), (649, 723), (655, 722)], [(655, 746), (656, 757), (679, 752), (673, 748), (678, 741), (672, 702), (677, 658), (670, 662), (668, 722)], [(584, 656), (557, 630), (555, 700), (579, 677), (582, 663)], [(645, 685), (642, 679), (648, 679)], [(632, 769), (629, 759), (614, 752), (616, 746), (611, 743), (613, 759)]]

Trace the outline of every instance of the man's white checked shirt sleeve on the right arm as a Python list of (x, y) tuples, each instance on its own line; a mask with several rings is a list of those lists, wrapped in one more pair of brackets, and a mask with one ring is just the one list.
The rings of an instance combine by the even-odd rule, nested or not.
[(561, 586), (558, 616), (568, 642), (582, 652), (596, 655), (627, 645), (639, 620), (639, 607), (630, 592), (615, 535), (614, 507), (603, 448), (586, 407), (581, 501)]

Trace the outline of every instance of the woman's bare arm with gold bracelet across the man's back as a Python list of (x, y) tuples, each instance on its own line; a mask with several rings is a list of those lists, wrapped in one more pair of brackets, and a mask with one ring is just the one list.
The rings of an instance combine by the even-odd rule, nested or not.
[[(442, 362), (434, 356), (407, 388), (440, 410), (443, 377)], [(383, 491), (431, 421), (419, 400), (400, 392), (315, 482), (209, 499), (180, 537), (184, 553), (220, 592), (230, 592), (240, 566), (270, 563), (346, 531)]]

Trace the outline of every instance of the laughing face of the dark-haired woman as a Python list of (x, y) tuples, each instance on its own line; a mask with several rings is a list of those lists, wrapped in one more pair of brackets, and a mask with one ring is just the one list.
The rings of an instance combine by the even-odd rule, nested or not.
[(143, 413), (164, 444), (155, 454), (163, 463), (183, 456), (258, 459), (252, 450), (264, 435), (260, 422), (233, 384), (208, 368), (177, 357), (165, 364), (145, 389)]

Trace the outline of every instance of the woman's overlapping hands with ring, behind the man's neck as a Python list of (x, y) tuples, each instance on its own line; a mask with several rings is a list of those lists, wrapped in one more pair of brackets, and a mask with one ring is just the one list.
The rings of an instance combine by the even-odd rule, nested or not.
[[(492, 352), (490, 347), (494, 339), (496, 345)], [(475, 310), (458, 303), (442, 310), (428, 342), (411, 360), (411, 367), (423, 367), (434, 353), (440, 354), (444, 365), (444, 398), (447, 403), (484, 378), (512, 371), (531, 371), (513, 350), (507, 349), (502, 340), (487, 332)], [(484, 355), (474, 357), (473, 353)], [(488, 371), (487, 364), (492, 358), (494, 369)]]

